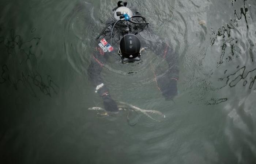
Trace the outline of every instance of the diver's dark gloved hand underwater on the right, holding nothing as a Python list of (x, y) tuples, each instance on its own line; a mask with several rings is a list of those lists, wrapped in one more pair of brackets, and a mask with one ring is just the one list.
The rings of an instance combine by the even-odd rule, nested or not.
[(171, 100), (178, 94), (176, 78), (165, 75), (158, 78), (157, 83), (166, 100)]

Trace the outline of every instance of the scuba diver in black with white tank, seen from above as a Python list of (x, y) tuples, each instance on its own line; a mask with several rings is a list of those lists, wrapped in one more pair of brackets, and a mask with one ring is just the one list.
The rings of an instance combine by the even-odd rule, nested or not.
[[(141, 60), (145, 48), (161, 56), (168, 63), (165, 75), (156, 77), (158, 89), (166, 100), (172, 100), (177, 95), (178, 80), (178, 56), (173, 49), (157, 35), (144, 30), (148, 26), (146, 18), (139, 12), (133, 13), (127, 6), (127, 2), (118, 1), (113, 9), (115, 22), (106, 26), (99, 34), (96, 52), (92, 55), (92, 61), (88, 68), (89, 79), (95, 87), (95, 92), (102, 97), (104, 108), (109, 112), (117, 112), (117, 104), (112, 99), (108, 87), (104, 84), (101, 71), (108, 61), (111, 53), (120, 55), (121, 62), (129, 63)], [(117, 28), (119, 37), (113, 37), (114, 28)], [(111, 28), (112, 27), (112, 28)], [(109, 35), (110, 34), (110, 35)], [(103, 38), (104, 36), (105, 38)], [(147, 38), (149, 36), (149, 39)], [(112, 39), (119, 40), (119, 45), (113, 46)], [(143, 48), (145, 47), (145, 48)]]

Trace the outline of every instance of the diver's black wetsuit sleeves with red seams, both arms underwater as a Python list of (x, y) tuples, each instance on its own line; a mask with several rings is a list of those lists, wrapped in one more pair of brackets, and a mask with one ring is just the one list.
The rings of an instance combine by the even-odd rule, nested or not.
[[(164, 76), (157, 77), (157, 75), (155, 75), (158, 89), (162, 92), (166, 99), (173, 99), (173, 97), (177, 95), (178, 55), (175, 54), (172, 47), (170, 47), (165, 42), (162, 42), (160, 39), (158, 39), (158, 37), (151, 37), (154, 38), (154, 41), (143, 38), (141, 34), (144, 32), (145, 31), (140, 32), (137, 35), (140, 39), (141, 47), (148, 47), (156, 55), (159, 55), (165, 59), (169, 66), (169, 69), (166, 70)], [(147, 34), (144, 34), (144, 36), (146, 35)], [(107, 41), (109, 42), (110, 40), (108, 39)], [(117, 44), (119, 44), (119, 42)], [(95, 46), (97, 51), (95, 51), (95, 53), (92, 55), (92, 61), (88, 68), (90, 81), (93, 83), (98, 95), (103, 98), (105, 109), (108, 111), (117, 111), (116, 102), (111, 98), (109, 89), (104, 84), (103, 78), (101, 77), (101, 71), (104, 68), (104, 65), (108, 62), (109, 55), (112, 53), (115, 53), (116, 55), (117, 50), (105, 53), (98, 46), (98, 44)], [(143, 53), (145, 52), (142, 52), (142, 55)]]

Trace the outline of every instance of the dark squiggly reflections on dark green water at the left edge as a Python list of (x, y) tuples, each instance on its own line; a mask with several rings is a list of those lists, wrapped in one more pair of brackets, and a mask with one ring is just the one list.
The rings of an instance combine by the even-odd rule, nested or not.
[[(35, 28), (31, 33), (35, 32)], [(46, 81), (38, 73), (36, 50), (41, 38), (25, 40), (16, 35), (14, 29), (7, 36), (0, 37), (0, 46), (3, 47), (1, 58), (6, 63), (1, 69), (0, 83), (10, 83), (16, 90), (19, 83), (25, 86), (31, 95), (37, 97), (34, 87), (45, 95), (57, 94), (58, 86), (50, 75)]]

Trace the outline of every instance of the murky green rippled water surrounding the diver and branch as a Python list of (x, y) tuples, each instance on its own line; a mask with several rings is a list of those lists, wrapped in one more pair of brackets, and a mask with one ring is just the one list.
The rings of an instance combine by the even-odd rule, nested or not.
[[(165, 114), (99, 117), (87, 68), (117, 1), (0, 2), (0, 163), (256, 163), (256, 1), (131, 0), (179, 55), (179, 94), (166, 101), (150, 52), (102, 71), (113, 99)], [(131, 74), (132, 73), (132, 74)], [(123, 87), (126, 86), (126, 87)]]

